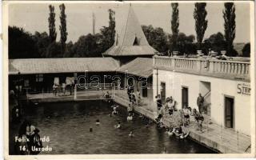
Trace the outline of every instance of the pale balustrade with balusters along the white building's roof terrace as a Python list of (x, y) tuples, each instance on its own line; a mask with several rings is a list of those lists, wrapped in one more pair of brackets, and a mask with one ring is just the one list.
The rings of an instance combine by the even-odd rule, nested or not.
[(154, 68), (250, 81), (250, 62), (155, 56)]

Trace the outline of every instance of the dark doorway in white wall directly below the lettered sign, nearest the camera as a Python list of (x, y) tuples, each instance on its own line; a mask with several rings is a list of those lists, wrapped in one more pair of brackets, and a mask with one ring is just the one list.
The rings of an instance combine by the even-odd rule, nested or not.
[(225, 97), (225, 126), (234, 128), (234, 98)]

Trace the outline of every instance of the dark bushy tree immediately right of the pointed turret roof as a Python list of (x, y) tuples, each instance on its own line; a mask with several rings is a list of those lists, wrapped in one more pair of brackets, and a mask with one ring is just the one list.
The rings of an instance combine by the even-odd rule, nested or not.
[(155, 50), (158, 50), (160, 53), (167, 53), (168, 44), (167, 44), (167, 35), (162, 30), (162, 28), (153, 26), (142, 26), (142, 30), (146, 36), (147, 42), (149, 42), (150, 46), (152, 46)]

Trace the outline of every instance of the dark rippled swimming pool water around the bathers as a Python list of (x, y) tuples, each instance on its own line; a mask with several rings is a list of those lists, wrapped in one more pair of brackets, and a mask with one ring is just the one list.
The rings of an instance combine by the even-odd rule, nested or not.
[[(118, 115), (110, 117), (112, 110), (102, 101), (42, 103), (24, 110), (25, 118), (40, 130), (41, 138), (50, 138), (42, 143), (52, 151), (40, 154), (160, 154), (164, 147), (168, 154), (214, 153), (189, 138), (169, 138), (154, 123), (146, 128), (148, 119), (138, 115), (133, 122), (127, 122), (127, 111), (122, 106), (118, 107)], [(95, 125), (96, 119), (101, 122), (99, 126)], [(118, 122), (121, 130), (114, 128)], [(10, 124), (10, 154), (14, 154), (12, 137), (18, 133), (19, 126)], [(128, 136), (130, 130), (134, 130), (132, 138)]]

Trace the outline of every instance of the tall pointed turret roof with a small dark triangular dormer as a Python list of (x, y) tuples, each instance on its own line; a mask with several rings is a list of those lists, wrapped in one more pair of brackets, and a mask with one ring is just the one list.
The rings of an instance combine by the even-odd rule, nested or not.
[(134, 13), (132, 6), (129, 7), (128, 15), (120, 36), (116, 35), (114, 45), (106, 50), (103, 55), (109, 56), (136, 56), (154, 55), (157, 50), (146, 40), (142, 26)]

